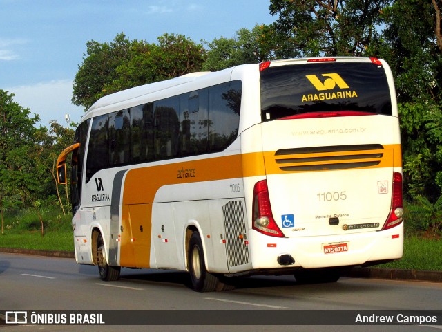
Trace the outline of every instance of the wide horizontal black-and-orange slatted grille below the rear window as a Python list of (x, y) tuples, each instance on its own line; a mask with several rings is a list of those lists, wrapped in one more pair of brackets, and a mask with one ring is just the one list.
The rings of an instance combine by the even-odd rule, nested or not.
[(275, 162), (282, 171), (323, 171), (376, 166), (384, 156), (383, 146), (336, 145), (280, 149)]

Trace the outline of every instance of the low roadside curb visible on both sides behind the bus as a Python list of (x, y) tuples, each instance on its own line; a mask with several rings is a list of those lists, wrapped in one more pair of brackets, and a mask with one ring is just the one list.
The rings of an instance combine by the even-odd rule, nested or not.
[[(32, 250), (19, 248), (0, 248), (0, 252), (22, 255), (75, 258), (75, 252)], [(401, 268), (351, 268), (343, 277), (365, 279), (408, 280), (415, 282), (442, 282), (442, 271), (406, 270)]]

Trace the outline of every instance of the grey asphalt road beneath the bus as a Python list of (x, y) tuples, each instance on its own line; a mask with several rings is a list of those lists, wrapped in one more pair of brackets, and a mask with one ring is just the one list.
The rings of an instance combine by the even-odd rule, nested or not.
[[(319, 312), (321, 315), (336, 310), (399, 311), (405, 315), (415, 310), (440, 313), (442, 284), (343, 277), (334, 284), (302, 285), (292, 276), (267, 276), (237, 279), (233, 291), (196, 293), (189, 288), (189, 276), (177, 271), (124, 268), (118, 282), (102, 282), (95, 266), (80, 266), (74, 259), (0, 253), (0, 320), (2, 315), (4, 320), (5, 311), (122, 309), (147, 310), (149, 314), (160, 310), (158, 315), (171, 313), (171, 316), (173, 310), (189, 310), (191, 317), (204, 315), (205, 310), (221, 316), (227, 315), (227, 310), (247, 311), (250, 317), (269, 315), (275, 319), (280, 317), (280, 311), (298, 315), (304, 310), (318, 309), (325, 310)], [(210, 322), (210, 318), (208, 320)], [(229, 316), (225, 316), (225, 320), (229, 322)], [(311, 320), (313, 325), (315, 320)], [(442, 331), (442, 322), (418, 326), (281, 326), (271, 318), (265, 321), (269, 324), (253, 328), (182, 326), (171, 317), (170, 324), (177, 325), (166, 329), (164, 326), (148, 326), (148, 329), (147, 326), (124, 326), (124, 331), (378, 331), (379, 328), (383, 331)], [(122, 326), (0, 325), (0, 331), (4, 332), (41, 330), (121, 331)]]

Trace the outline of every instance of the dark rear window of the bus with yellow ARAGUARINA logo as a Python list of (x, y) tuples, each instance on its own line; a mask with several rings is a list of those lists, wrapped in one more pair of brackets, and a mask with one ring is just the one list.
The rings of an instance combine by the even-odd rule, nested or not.
[(372, 63), (313, 63), (269, 67), (261, 75), (261, 118), (353, 111), (392, 115), (384, 68)]

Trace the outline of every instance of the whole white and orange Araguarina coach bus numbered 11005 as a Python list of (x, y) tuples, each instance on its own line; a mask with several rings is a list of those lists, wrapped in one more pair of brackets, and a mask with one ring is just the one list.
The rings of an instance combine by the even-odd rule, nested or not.
[(287, 59), (193, 73), (107, 95), (57, 167), (71, 191), (75, 257), (231, 277), (340, 270), (401, 258), (401, 142), (381, 59)]

